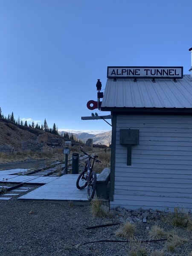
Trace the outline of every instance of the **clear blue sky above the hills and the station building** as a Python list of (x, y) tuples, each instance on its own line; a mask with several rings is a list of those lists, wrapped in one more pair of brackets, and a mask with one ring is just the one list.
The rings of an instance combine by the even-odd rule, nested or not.
[[(183, 66), (192, 0), (0, 0), (0, 107), (58, 129), (110, 130), (87, 109), (107, 66)], [(30, 123), (28, 121), (28, 123)]]

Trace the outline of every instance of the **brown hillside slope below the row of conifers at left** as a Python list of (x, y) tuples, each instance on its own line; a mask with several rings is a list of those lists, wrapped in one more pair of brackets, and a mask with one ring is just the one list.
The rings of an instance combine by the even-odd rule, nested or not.
[[(30, 139), (35, 140), (40, 134), (45, 134), (45, 132), (23, 125), (17, 125), (8, 120), (0, 120), (0, 145), (12, 146), (16, 151), (20, 150), (22, 142)], [(55, 137), (53, 134), (46, 134)]]

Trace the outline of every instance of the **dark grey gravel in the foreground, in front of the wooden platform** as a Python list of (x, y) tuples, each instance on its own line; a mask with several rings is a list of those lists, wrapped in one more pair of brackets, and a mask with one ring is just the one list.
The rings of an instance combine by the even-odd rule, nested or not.
[[(125, 255), (123, 243), (74, 244), (116, 239), (116, 226), (86, 230), (87, 226), (113, 221), (93, 218), (88, 206), (40, 201), (0, 201), (1, 256)], [(31, 214), (30, 214), (30, 213)]]

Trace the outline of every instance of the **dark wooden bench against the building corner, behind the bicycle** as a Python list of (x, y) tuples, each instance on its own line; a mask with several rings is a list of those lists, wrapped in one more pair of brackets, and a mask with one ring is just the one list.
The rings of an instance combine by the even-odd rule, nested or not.
[(110, 180), (110, 168), (105, 168), (97, 176), (96, 182), (96, 195), (98, 198), (108, 199), (108, 189), (107, 185)]

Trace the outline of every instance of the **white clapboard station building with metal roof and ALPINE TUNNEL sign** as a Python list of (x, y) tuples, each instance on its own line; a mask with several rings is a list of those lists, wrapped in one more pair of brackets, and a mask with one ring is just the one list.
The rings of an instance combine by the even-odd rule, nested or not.
[(192, 75), (108, 67), (101, 110), (112, 115), (111, 208), (192, 209)]

